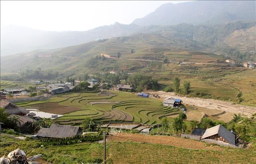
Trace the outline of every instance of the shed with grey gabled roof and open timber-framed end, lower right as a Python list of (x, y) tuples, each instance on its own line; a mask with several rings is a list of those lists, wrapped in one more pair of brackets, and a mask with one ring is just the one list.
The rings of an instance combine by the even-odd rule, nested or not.
[(206, 129), (205, 133), (202, 135), (202, 139), (211, 139), (232, 145), (236, 144), (235, 135), (220, 124)]

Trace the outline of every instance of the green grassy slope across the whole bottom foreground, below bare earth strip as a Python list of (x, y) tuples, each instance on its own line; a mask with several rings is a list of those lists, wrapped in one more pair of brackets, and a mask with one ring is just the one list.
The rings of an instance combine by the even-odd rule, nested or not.
[[(166, 136), (168, 137), (168, 136)], [(179, 139), (179, 138), (177, 138)], [(160, 141), (161, 139), (159, 139)], [(256, 152), (248, 149), (213, 147), (199, 141), (182, 139), (181, 143), (196, 142), (202, 149), (187, 149), (171, 145), (135, 143), (132, 141), (107, 141), (107, 164), (114, 163), (254, 163)], [(21, 141), (10, 134), (1, 134), (1, 152), (22, 148), (30, 156), (42, 154), (40, 163), (100, 163), (103, 159), (102, 143), (77, 143), (64, 146), (40, 146), (38, 140)], [(215, 148), (216, 147), (216, 148)], [(211, 150), (214, 149), (214, 150)], [(217, 150), (216, 150), (217, 149)], [(33, 151), (33, 152), (32, 152)], [(164, 153), (163, 153), (164, 151)], [(1, 155), (6, 153), (1, 153)]]

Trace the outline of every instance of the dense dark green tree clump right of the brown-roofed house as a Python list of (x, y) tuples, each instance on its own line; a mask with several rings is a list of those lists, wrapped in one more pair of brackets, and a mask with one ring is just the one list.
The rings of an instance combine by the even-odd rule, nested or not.
[[(158, 82), (156, 79), (152, 79), (151, 76), (145, 75), (131, 75), (128, 77), (127, 82), (132, 85), (132, 87), (136, 88), (137, 90), (141, 89), (152, 89), (157, 90)], [(136, 90), (136, 91), (137, 91)], [(141, 92), (141, 91), (137, 92)]]

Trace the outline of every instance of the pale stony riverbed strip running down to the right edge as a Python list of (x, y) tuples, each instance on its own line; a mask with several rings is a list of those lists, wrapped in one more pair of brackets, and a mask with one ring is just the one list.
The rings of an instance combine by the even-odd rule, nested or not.
[[(151, 94), (157, 94), (162, 99), (167, 97), (174, 97), (179, 98), (182, 100), (182, 103), (185, 105), (193, 105), (196, 107), (202, 107), (202, 108), (209, 108), (209, 109), (216, 109), (231, 113), (241, 113), (246, 116), (251, 116), (253, 113), (256, 113), (256, 107), (248, 107), (244, 105), (238, 105), (230, 102), (224, 102), (220, 100), (214, 100), (214, 99), (204, 99), (204, 98), (196, 98), (196, 97), (181, 97), (177, 96), (174, 92), (164, 92), (164, 91), (147, 91)], [(152, 96), (153, 97), (153, 96)]]

